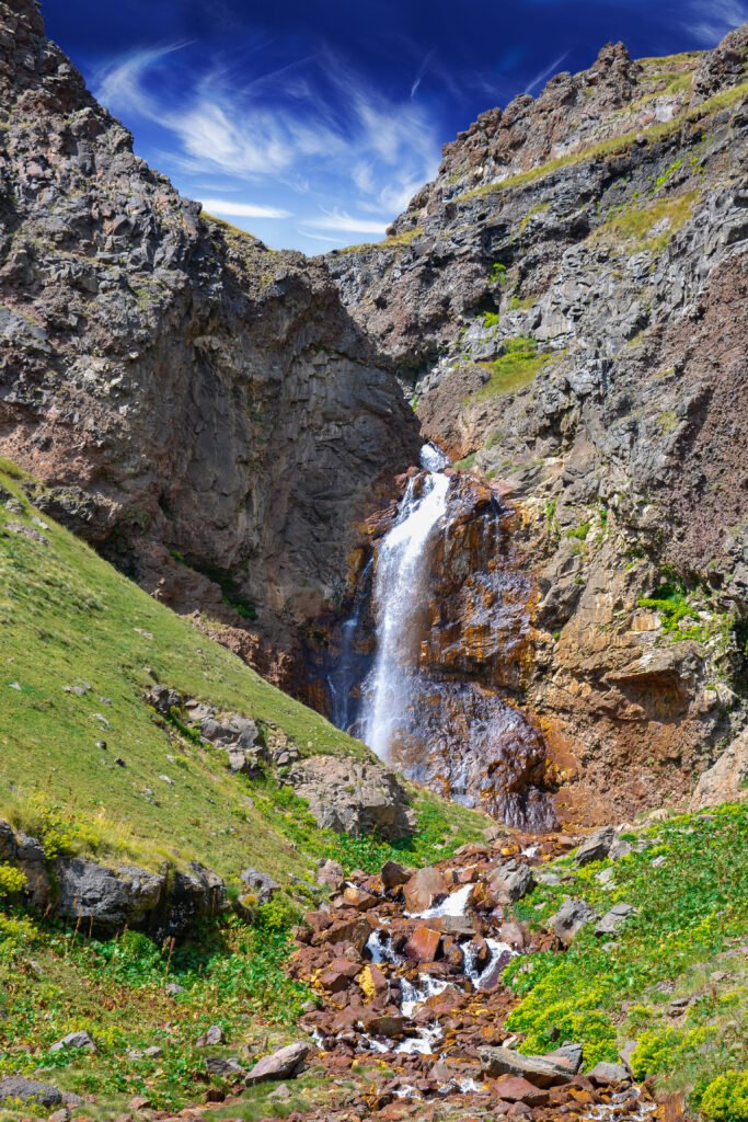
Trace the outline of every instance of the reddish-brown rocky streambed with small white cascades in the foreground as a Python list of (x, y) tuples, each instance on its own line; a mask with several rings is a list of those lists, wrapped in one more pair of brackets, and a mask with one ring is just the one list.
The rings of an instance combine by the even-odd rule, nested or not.
[[(340, 1114), (325, 1118), (641, 1119), (657, 1110), (622, 1064), (588, 1070), (575, 1041), (543, 1057), (516, 1051), (505, 1028), (516, 999), (502, 971), (517, 955), (561, 954), (569, 940), (561, 927), (530, 932), (509, 908), (554, 876), (546, 862), (573, 842), (496, 833), (415, 873), (393, 862), (350, 880), (334, 863), (321, 868), (333, 895), (297, 930), (293, 973), (317, 994), (302, 1021), (317, 1061), (348, 1087)], [(362, 1073), (363, 1088), (349, 1082)]]

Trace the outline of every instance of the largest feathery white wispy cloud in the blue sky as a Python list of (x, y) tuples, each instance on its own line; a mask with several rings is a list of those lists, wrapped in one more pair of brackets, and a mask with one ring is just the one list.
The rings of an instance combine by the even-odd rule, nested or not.
[[(283, 183), (301, 193), (335, 182), (330, 209), (303, 220), (339, 233), (381, 234), (438, 167), (441, 145), (430, 111), (407, 91), (397, 100), (372, 89), (324, 48), (270, 73), (234, 72), (225, 57), (195, 79), (187, 44), (130, 53), (99, 75), (98, 98), (112, 112), (145, 118), (176, 140), (161, 144), (167, 167), (191, 176), (225, 176), (257, 187)], [(250, 64), (261, 54), (250, 56)], [(413, 92), (431, 53), (421, 64)], [(285, 200), (284, 200), (285, 201)], [(260, 202), (204, 201), (209, 210), (241, 218), (288, 218)], [(306, 208), (304, 208), (306, 209)], [(355, 211), (369, 213), (357, 218)], [(299, 221), (302, 221), (299, 219)]]

